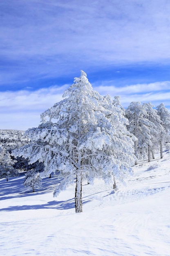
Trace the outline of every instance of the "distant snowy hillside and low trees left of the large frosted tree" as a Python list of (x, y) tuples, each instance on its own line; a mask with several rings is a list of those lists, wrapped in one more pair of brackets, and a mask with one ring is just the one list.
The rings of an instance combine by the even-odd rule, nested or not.
[(31, 186), (34, 191), (35, 186), (41, 184), (39, 172), (44, 171), (44, 164), (40, 162), (29, 164), (28, 158), (11, 155), (14, 148), (29, 144), (29, 141), (28, 137), (24, 136), (23, 131), (0, 130), (0, 178), (5, 177), (8, 181), (9, 177), (27, 172), (24, 184), (25, 186)]

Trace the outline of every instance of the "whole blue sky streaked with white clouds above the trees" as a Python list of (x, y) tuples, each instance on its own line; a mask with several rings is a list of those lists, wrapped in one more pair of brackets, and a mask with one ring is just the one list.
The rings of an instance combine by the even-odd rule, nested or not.
[(170, 1), (0, 0), (0, 129), (38, 126), (80, 70), (125, 108), (170, 110)]

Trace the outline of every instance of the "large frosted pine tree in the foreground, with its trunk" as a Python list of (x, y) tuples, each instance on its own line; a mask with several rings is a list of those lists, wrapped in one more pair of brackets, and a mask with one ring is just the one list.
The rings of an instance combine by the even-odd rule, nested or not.
[(113, 184), (114, 177), (123, 178), (132, 171), (133, 141), (127, 120), (109, 96), (92, 89), (85, 72), (63, 98), (42, 113), (38, 128), (27, 130), (31, 143), (15, 154), (29, 157), (30, 163), (44, 162), (45, 175), (60, 172), (62, 182), (54, 196), (76, 179), (75, 209), (81, 212), (82, 179), (101, 177)]

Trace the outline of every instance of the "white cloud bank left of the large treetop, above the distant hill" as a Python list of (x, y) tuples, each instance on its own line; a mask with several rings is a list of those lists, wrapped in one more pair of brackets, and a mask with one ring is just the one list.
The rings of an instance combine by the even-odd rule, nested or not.
[(0, 129), (27, 130), (40, 124), (40, 114), (62, 100), (68, 85), (34, 92), (0, 92)]

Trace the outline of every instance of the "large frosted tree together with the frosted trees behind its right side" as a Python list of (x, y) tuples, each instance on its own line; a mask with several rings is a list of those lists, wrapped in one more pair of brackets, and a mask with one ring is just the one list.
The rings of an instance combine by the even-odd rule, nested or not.
[(26, 131), (30, 143), (13, 154), (42, 162), (44, 176), (59, 171), (54, 196), (76, 180), (75, 209), (81, 212), (82, 180), (99, 177), (115, 187), (147, 152), (150, 161), (150, 152), (169, 141), (170, 114), (163, 104), (154, 110), (151, 103), (132, 102), (125, 110), (119, 97), (112, 101), (94, 91), (83, 71), (63, 98), (42, 113), (41, 124)]

